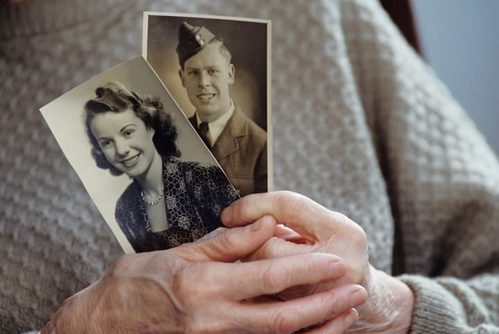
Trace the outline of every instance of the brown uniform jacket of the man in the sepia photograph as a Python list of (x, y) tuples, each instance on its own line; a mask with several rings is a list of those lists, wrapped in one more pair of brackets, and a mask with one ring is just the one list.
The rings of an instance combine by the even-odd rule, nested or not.
[[(189, 120), (198, 130), (195, 115)], [(267, 133), (237, 104), (211, 153), (240, 196), (267, 191)]]

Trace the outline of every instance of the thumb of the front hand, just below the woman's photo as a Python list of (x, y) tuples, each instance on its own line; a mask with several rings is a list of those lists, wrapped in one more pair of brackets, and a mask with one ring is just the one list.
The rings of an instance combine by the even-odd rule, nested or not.
[(184, 243), (169, 251), (191, 262), (234, 262), (260, 248), (274, 235), (275, 228), (274, 217), (263, 216), (242, 228), (229, 228), (211, 239)]

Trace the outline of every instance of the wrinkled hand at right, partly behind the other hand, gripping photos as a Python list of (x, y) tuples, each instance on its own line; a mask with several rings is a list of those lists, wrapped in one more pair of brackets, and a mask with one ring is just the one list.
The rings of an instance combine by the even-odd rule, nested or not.
[[(272, 215), (278, 223), (294, 230), (277, 230), (279, 237), (267, 241), (246, 261), (272, 259), (289, 254), (326, 252), (344, 261), (345, 275), (318, 284), (293, 287), (279, 293), (284, 300), (360, 284), (369, 294), (358, 307), (359, 319), (352, 332), (405, 333), (410, 327), (414, 295), (398, 279), (369, 265), (367, 237), (359, 225), (338, 212), (292, 192), (254, 194), (232, 203), (222, 212), (227, 226), (241, 226), (261, 216)], [(292, 241), (292, 242), (291, 242)]]

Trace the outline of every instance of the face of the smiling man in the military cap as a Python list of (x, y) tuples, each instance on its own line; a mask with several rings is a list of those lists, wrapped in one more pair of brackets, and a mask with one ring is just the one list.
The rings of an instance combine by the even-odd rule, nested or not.
[(180, 69), (182, 85), (203, 122), (212, 122), (230, 106), (229, 84), (234, 83), (234, 65), (220, 53), (220, 43), (202, 48)]

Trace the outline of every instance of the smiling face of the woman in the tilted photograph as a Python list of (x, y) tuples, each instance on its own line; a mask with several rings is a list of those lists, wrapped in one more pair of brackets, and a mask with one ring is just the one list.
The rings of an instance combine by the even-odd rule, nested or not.
[(128, 109), (98, 113), (90, 122), (91, 132), (111, 165), (129, 176), (145, 173), (155, 156), (155, 131)]

